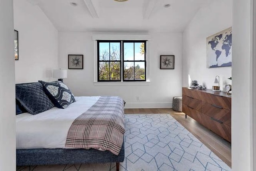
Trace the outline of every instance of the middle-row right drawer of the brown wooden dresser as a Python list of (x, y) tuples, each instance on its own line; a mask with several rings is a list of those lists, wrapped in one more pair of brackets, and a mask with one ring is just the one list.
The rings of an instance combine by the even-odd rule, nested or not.
[(219, 106), (212, 105), (205, 101), (202, 101), (202, 114), (213, 117), (224, 124), (231, 126), (231, 111), (227, 109), (220, 108)]

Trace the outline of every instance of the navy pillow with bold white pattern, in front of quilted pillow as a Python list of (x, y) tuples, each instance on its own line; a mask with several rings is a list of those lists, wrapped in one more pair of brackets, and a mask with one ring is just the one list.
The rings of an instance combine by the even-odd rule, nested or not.
[(65, 109), (76, 101), (70, 89), (63, 82), (44, 82), (41, 80), (38, 82), (43, 85), (45, 93), (58, 108)]

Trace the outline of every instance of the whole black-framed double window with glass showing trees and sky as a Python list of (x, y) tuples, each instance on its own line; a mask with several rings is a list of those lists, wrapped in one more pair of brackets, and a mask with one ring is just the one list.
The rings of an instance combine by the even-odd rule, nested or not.
[(97, 51), (98, 82), (146, 81), (145, 40), (98, 40)]

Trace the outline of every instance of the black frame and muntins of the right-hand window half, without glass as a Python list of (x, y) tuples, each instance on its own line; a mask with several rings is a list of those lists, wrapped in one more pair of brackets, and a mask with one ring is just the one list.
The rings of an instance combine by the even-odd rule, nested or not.
[[(123, 82), (146, 82), (146, 40), (123, 40), (122, 41), (122, 80)], [(133, 59), (134, 60), (124, 60), (124, 43), (144, 43), (144, 60), (135, 60), (135, 50), (133, 44)], [(124, 62), (134, 62), (134, 80), (124, 80)], [(145, 62), (145, 80), (135, 80), (135, 62)]]

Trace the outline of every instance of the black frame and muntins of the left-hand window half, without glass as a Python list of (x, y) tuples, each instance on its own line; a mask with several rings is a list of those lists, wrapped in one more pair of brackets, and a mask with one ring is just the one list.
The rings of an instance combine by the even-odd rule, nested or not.
[[(100, 60), (100, 43), (109, 43), (109, 51), (110, 51), (110, 43), (120, 43), (120, 60), (110, 60), (110, 52), (109, 52), (109, 60)], [(121, 40), (97, 40), (97, 56), (98, 56), (98, 82), (121, 82), (122, 81), (122, 42)], [(120, 62), (120, 80), (100, 80), (100, 62)], [(110, 79), (109, 73), (109, 79)]]

